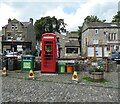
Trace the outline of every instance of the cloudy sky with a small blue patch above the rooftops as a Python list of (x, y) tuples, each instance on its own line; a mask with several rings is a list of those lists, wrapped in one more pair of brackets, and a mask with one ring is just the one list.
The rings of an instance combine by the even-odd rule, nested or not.
[[(34, 1), (34, 2), (33, 2)], [(118, 11), (119, 0), (0, 0), (0, 30), (8, 19), (34, 22), (44, 16), (64, 19), (68, 31), (78, 30), (85, 17), (96, 15), (110, 22)]]

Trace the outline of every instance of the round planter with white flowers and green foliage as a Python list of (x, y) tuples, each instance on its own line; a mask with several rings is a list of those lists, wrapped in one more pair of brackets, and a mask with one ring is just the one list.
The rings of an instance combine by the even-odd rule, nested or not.
[(92, 70), (89, 71), (90, 78), (93, 80), (102, 80), (104, 79), (104, 69), (102, 66), (94, 66)]

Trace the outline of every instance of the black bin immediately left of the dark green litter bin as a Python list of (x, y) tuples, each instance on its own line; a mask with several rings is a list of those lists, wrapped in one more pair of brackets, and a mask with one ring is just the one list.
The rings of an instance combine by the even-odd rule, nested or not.
[(17, 69), (17, 56), (9, 56), (7, 57), (8, 70)]

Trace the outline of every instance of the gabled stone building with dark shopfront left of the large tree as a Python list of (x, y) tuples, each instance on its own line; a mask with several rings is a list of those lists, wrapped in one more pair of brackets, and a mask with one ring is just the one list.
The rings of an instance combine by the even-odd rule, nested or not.
[(26, 51), (34, 50), (36, 36), (33, 19), (28, 22), (20, 22), (16, 19), (8, 19), (8, 24), (2, 27), (2, 51)]

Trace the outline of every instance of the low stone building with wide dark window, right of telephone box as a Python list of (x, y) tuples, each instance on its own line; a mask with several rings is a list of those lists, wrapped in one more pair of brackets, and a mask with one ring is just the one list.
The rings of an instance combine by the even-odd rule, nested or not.
[(55, 32), (60, 58), (77, 58), (80, 56), (80, 44), (78, 32), (68, 32), (62, 35)]

